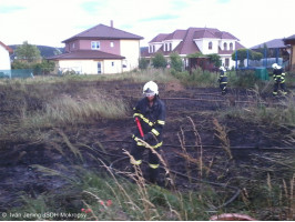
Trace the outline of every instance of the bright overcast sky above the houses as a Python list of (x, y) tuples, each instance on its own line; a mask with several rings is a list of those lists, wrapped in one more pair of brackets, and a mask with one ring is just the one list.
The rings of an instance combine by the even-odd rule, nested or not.
[(246, 48), (295, 34), (295, 0), (0, 0), (4, 44), (64, 47), (63, 40), (96, 24), (141, 36), (216, 28)]

